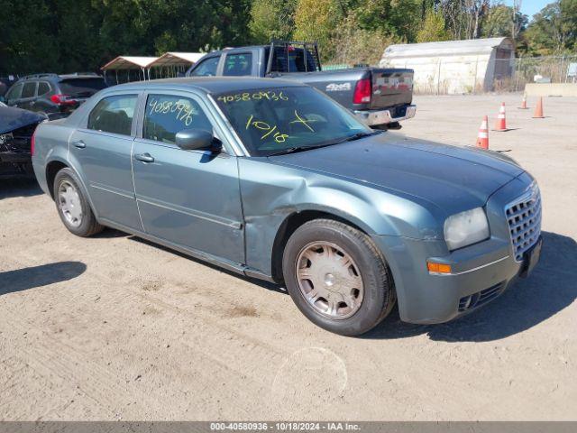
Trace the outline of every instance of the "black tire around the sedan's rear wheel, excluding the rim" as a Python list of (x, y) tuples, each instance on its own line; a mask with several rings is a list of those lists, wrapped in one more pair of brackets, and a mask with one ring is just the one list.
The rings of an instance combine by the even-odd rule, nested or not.
[[(81, 207), (81, 217), (79, 218), (80, 222), (78, 226), (71, 224), (69, 219), (64, 215), (64, 211), (62, 210), (62, 203), (59, 196), (60, 186), (68, 182), (71, 186), (76, 188), (78, 192), (79, 203)], [(54, 202), (56, 203), (56, 209), (58, 210), (58, 215), (62, 220), (62, 223), (66, 228), (69, 229), (70, 233), (73, 233), (77, 236), (87, 237), (91, 235), (96, 235), (96, 233), (101, 232), (104, 229), (104, 226), (101, 226), (96, 221), (96, 217), (94, 212), (92, 212), (92, 208), (88, 203), (86, 193), (84, 189), (80, 186), (81, 183), (78, 180), (78, 176), (73, 170), (68, 168), (60, 170), (56, 173), (56, 177), (54, 178)]]

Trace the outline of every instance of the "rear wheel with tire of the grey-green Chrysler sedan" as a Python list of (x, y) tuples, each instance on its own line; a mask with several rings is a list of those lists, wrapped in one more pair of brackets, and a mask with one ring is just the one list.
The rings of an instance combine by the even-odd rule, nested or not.
[(104, 228), (88, 204), (88, 200), (79, 187), (76, 173), (62, 169), (54, 178), (54, 201), (64, 226), (74, 235), (87, 237), (96, 235)]

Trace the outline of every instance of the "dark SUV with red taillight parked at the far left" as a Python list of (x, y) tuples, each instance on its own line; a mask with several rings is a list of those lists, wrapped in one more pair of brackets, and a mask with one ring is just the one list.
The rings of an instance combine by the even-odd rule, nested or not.
[(5, 94), (5, 104), (48, 115), (65, 117), (106, 87), (105, 79), (93, 73), (69, 75), (36, 74), (18, 80)]

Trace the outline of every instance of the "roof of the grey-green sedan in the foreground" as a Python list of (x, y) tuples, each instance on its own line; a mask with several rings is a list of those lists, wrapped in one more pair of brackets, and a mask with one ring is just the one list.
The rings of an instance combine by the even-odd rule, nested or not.
[(149, 81), (135, 81), (106, 88), (106, 92), (125, 90), (162, 90), (191, 88), (206, 93), (222, 93), (243, 91), (254, 88), (298, 88), (305, 86), (297, 81), (289, 81), (279, 78), (253, 78), (253, 77), (194, 77), (194, 78), (165, 78), (151, 79)]

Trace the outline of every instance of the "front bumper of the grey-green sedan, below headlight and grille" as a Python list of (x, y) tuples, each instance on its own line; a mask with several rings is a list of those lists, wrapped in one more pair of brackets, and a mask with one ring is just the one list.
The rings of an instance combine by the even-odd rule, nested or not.
[[(531, 181), (524, 173), (491, 196), (486, 205), (491, 236), (479, 244), (448, 252), (444, 240), (376, 236), (393, 274), (401, 320), (446, 322), (486, 305), (526, 276), (528, 263), (515, 259), (504, 208)], [(452, 273), (428, 272), (427, 260), (450, 264)]]

